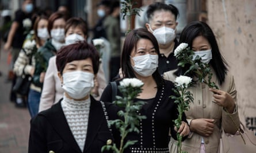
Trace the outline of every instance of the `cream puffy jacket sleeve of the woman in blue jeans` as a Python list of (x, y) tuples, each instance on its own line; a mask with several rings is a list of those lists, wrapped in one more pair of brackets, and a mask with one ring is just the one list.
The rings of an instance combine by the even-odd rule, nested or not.
[(14, 63), (14, 73), (16, 73), (17, 76), (21, 76), (23, 74), (23, 71), (25, 74), (29, 74), (32, 68), (33, 66), (29, 65), (29, 57), (21, 49), (20, 53), (18, 54), (18, 58)]

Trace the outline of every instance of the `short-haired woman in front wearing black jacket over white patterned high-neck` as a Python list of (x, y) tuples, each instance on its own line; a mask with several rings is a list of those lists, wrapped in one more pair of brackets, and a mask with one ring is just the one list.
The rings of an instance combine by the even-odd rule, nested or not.
[(99, 58), (94, 46), (85, 41), (60, 49), (56, 65), (63, 99), (31, 120), (28, 152), (100, 153), (102, 146), (116, 139), (105, 113), (116, 119), (117, 107), (90, 96)]

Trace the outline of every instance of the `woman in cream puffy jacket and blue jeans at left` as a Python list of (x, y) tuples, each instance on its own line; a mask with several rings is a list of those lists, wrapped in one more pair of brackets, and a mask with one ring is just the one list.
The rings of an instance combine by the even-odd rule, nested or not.
[[(36, 17), (33, 27), (35, 34), (33, 34), (32, 39), (29, 38), (24, 42), (23, 49), (14, 63), (13, 70), (17, 76), (21, 76), (23, 73), (33, 76), (35, 72), (35, 54), (49, 37), (47, 25), (48, 17), (46, 15), (42, 14)], [(31, 117), (38, 112), (40, 95), (41, 88), (32, 83), (28, 93), (28, 109)]]

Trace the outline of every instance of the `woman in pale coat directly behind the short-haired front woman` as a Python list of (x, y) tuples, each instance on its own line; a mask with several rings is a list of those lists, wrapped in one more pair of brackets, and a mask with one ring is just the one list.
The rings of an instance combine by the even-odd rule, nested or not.
[[(77, 41), (83, 41), (87, 38), (87, 23), (82, 18), (70, 18), (65, 26), (65, 45), (74, 44)], [(56, 56), (49, 59), (49, 66), (44, 77), (44, 87), (41, 94), (39, 112), (50, 108), (53, 104), (57, 103), (63, 96), (64, 90), (61, 87), (61, 83), (58, 77), (58, 70), (56, 66)], [(95, 98), (101, 95), (106, 87), (106, 81), (104, 78), (104, 72), (100, 65), (99, 72), (95, 77), (94, 84), (95, 92), (98, 94)], [(93, 88), (93, 89), (94, 89)]]

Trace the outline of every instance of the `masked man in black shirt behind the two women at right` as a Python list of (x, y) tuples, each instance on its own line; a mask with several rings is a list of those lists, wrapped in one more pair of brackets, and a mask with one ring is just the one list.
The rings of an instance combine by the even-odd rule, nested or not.
[(146, 28), (154, 34), (159, 44), (161, 56), (158, 70), (161, 75), (169, 70), (177, 69), (178, 62), (174, 57), (174, 49), (178, 46), (176, 39), (178, 15), (177, 7), (161, 2), (153, 3), (147, 9)]

